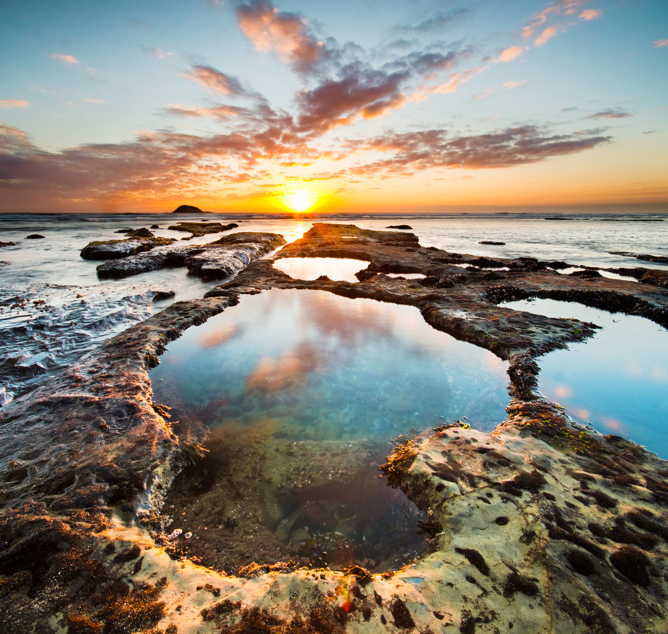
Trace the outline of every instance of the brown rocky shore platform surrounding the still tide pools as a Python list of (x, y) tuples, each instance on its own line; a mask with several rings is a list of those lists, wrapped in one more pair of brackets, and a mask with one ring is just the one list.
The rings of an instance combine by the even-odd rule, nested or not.
[[(273, 268), (280, 257), (354, 257), (369, 266), (359, 284), (293, 280)], [(317, 223), (207, 298), (172, 304), (0, 409), (0, 631), (665, 631), (668, 461), (576, 425), (536, 393), (536, 359), (591, 336), (595, 324), (498, 303), (550, 297), (665, 324), (668, 293), (653, 282), (560, 275), (530, 257), (488, 262), (424, 249), (407, 233)], [(267, 288), (416, 306), (434, 328), (510, 360), (508, 418), (492, 433), (475, 421), (440, 425), (406, 438), (381, 465), (382, 481), (426, 516), (428, 552), (413, 562), (371, 574), (277, 552), (273, 564), (223, 573), (201, 565), (206, 552), (187, 548), (201, 532), (166, 533), (177, 512), (170, 517), (166, 504), (172, 481), (215, 447), (202, 419), (174, 421), (154, 403), (148, 371), (185, 328)], [(353, 447), (350, 459), (361, 451)], [(299, 453), (305, 462), (291, 477), (309, 477), (308, 455)], [(340, 455), (327, 459), (349, 469)], [(240, 476), (243, 495), (244, 478), (257, 476), (251, 467)], [(257, 522), (266, 528), (268, 520)], [(233, 524), (221, 518), (230, 541), (239, 538)]]

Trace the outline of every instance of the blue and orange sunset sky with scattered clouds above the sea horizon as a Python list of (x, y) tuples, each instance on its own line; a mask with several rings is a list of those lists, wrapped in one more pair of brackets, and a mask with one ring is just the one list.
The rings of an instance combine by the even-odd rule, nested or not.
[(668, 210), (665, 0), (26, 0), (0, 60), (1, 212)]

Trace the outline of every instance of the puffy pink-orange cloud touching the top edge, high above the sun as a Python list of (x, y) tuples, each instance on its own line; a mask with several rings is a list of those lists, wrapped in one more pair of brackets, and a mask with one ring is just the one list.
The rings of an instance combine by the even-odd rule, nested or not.
[(257, 51), (274, 51), (296, 70), (309, 70), (323, 42), (315, 39), (299, 15), (279, 11), (267, 0), (252, 0), (236, 9), (239, 29)]

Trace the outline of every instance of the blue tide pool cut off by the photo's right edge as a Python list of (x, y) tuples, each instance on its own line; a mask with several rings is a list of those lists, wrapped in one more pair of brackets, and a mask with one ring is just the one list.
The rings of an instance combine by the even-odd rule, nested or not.
[(603, 326), (593, 338), (538, 359), (540, 391), (578, 422), (668, 458), (668, 330), (643, 317), (572, 302), (538, 299), (502, 305)]

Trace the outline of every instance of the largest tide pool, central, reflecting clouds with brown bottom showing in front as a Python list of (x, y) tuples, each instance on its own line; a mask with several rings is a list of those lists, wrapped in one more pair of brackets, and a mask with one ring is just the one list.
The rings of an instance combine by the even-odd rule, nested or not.
[(169, 348), (154, 401), (173, 408), (182, 443), (192, 425), (211, 435), (162, 512), (178, 547), (216, 570), (409, 563), (428, 547), (424, 514), (379, 478), (389, 441), (440, 417), (487, 431), (506, 417), (508, 364), (410, 306), (275, 289)]

